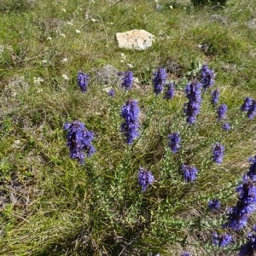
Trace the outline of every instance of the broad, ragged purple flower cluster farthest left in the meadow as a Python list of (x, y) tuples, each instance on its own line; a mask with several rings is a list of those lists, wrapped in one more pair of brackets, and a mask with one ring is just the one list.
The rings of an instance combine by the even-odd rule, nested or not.
[(84, 153), (88, 157), (95, 153), (95, 148), (91, 144), (94, 139), (94, 133), (88, 131), (84, 124), (79, 121), (66, 123), (63, 129), (67, 131), (67, 148), (69, 148), (70, 157), (76, 159), (80, 164), (84, 163)]

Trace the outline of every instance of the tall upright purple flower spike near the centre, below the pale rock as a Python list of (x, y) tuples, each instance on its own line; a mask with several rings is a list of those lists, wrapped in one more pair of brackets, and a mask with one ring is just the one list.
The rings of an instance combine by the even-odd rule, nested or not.
[(125, 134), (126, 143), (131, 144), (138, 137), (140, 109), (137, 106), (137, 100), (129, 100), (121, 109), (121, 117), (125, 122), (121, 125), (121, 131)]

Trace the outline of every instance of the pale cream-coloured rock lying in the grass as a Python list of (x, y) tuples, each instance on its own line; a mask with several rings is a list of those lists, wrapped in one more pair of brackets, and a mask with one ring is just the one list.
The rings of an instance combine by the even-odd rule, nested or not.
[(154, 35), (145, 30), (131, 30), (116, 33), (119, 48), (143, 50), (152, 46)]

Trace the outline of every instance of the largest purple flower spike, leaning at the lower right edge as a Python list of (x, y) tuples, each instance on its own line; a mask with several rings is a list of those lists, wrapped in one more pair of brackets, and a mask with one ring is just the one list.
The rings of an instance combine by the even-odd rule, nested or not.
[(237, 187), (236, 192), (239, 193), (236, 207), (230, 209), (224, 227), (241, 230), (247, 224), (249, 215), (256, 210), (256, 188), (250, 177), (243, 177), (243, 183)]

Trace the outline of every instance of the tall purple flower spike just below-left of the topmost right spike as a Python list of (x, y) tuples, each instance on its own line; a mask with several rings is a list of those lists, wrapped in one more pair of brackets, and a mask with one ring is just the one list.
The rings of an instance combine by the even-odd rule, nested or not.
[(201, 84), (196, 81), (187, 84), (185, 92), (189, 102), (185, 103), (184, 113), (187, 115), (187, 122), (192, 125), (201, 108)]

